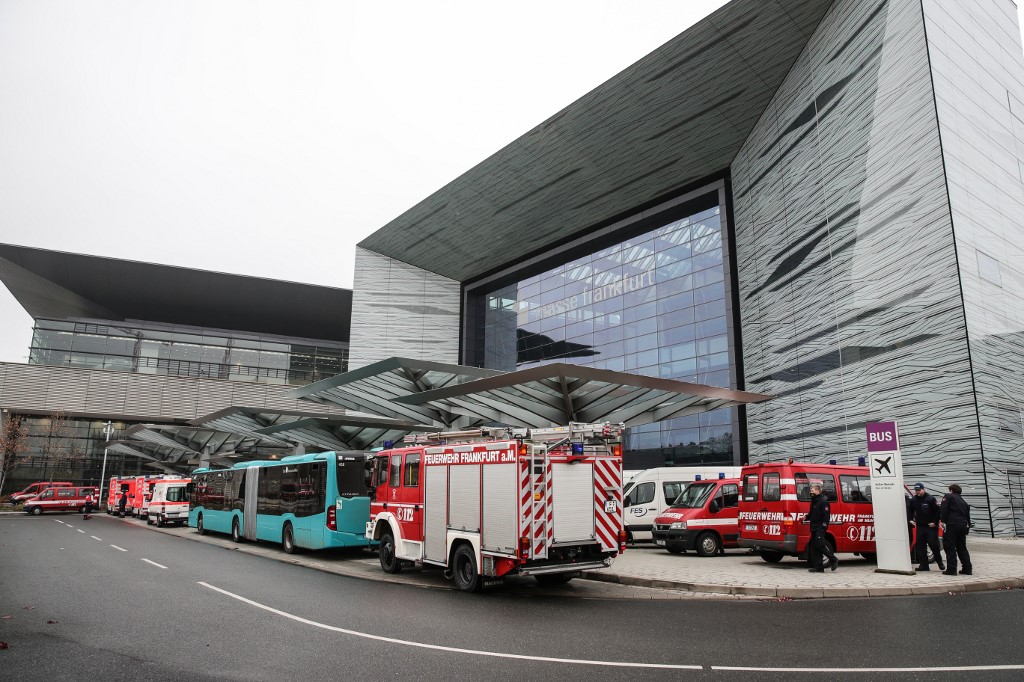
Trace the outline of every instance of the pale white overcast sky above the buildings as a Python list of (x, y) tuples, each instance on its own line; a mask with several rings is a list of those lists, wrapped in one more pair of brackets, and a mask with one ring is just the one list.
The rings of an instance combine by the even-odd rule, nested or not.
[[(354, 245), (725, 0), (0, 0), (0, 242), (349, 288)], [(0, 286), (0, 360), (32, 319)]]

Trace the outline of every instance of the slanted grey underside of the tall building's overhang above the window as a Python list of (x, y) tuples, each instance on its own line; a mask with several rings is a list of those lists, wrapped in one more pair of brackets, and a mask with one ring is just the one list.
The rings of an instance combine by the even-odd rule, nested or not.
[(833, 0), (733, 0), (359, 246), (466, 282), (729, 168)]

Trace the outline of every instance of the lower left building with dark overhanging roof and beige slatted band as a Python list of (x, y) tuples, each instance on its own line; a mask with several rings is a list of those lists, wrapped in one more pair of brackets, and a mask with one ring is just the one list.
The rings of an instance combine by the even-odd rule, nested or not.
[(29, 427), (4, 492), (54, 466), (98, 482), (108, 422), (113, 440), (139, 434), (106, 453), (108, 473), (131, 475), (225, 449), (290, 452), (189, 425), (221, 410), (338, 412), (291, 392), (347, 369), (349, 290), (8, 245), (0, 281), (35, 319), (29, 364), (0, 363), (3, 417)]

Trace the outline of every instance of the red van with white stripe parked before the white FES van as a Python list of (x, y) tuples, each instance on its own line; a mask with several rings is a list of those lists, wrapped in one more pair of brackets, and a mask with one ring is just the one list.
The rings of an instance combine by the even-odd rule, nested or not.
[(700, 556), (721, 554), (737, 546), (738, 519), (738, 478), (695, 480), (654, 519), (654, 545), (671, 554), (686, 550), (696, 550)]

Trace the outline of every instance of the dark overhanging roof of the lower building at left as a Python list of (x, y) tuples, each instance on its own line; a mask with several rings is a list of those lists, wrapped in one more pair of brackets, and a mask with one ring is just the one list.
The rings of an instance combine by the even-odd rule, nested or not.
[(0, 281), (33, 317), (147, 322), (347, 342), (352, 292), (0, 244)]

